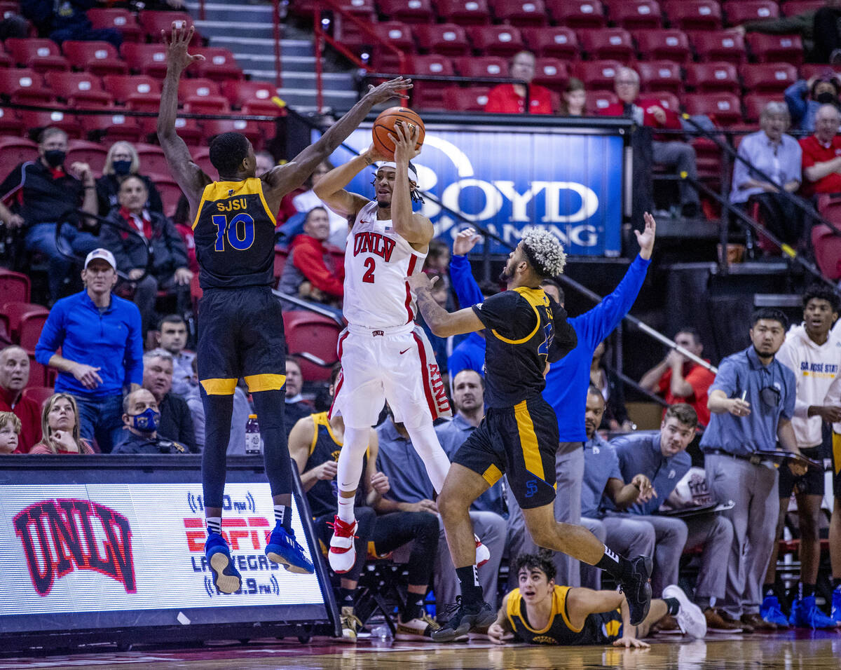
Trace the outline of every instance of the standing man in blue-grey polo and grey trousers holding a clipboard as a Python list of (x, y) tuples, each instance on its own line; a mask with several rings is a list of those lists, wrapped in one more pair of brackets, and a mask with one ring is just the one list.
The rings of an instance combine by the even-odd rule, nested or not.
[[(801, 455), (791, 425), (796, 378), (775, 358), (787, 325), (779, 309), (754, 311), (751, 345), (718, 367), (707, 401), (710, 424), (701, 438), (710, 493), (734, 502), (722, 512), (733, 522), (722, 618), (740, 622), (745, 632), (777, 627), (762, 619), (759, 606), (780, 514), (779, 475), (775, 463), (757, 451), (774, 450), (779, 441), (785, 451)], [(807, 471), (801, 462), (788, 467), (797, 477)]]

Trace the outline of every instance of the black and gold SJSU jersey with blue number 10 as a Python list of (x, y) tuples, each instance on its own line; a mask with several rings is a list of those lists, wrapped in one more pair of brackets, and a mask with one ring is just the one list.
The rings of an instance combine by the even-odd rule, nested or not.
[(263, 182), (213, 182), (204, 187), (193, 222), (202, 288), (271, 286), (274, 214)]

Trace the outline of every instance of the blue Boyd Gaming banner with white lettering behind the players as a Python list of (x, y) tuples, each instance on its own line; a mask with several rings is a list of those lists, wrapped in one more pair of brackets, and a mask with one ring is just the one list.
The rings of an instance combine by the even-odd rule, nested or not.
[[(313, 140), (318, 139), (313, 131)], [(371, 144), (362, 127), (345, 140), (358, 151)], [(334, 166), (352, 153), (340, 147)], [(490, 229), (514, 246), (532, 226), (552, 230), (570, 254), (618, 256), (621, 251), (622, 138), (565, 129), (426, 126), (418, 168), (421, 190), (468, 222)], [(373, 198), (374, 170), (368, 168), (347, 187)], [(427, 198), (420, 209), (451, 240), (467, 227)], [(480, 247), (478, 247), (480, 248)], [(492, 243), (494, 253), (508, 253)]]

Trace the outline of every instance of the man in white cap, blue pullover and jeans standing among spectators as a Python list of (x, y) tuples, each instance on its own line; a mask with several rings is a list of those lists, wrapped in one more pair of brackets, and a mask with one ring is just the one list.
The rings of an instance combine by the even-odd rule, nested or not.
[(117, 263), (107, 249), (87, 255), (82, 282), (85, 290), (53, 305), (35, 360), (58, 369), (56, 393), (76, 398), (82, 437), (110, 453), (123, 434), (123, 391), (143, 383), (140, 309), (111, 293)]

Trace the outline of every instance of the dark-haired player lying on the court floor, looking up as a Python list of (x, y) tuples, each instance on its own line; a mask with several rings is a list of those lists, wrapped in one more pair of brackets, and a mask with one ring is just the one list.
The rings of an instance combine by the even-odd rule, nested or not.
[(681, 630), (696, 639), (706, 635), (701, 608), (675, 584), (664, 588), (663, 599), (651, 601), (648, 615), (635, 627), (620, 592), (556, 584), (555, 566), (542, 552), (521, 555), (515, 567), (520, 586), (502, 599), (488, 629), (496, 644), (512, 640), (536, 645), (646, 647), (637, 638), (648, 635), (665, 615), (676, 616)]

